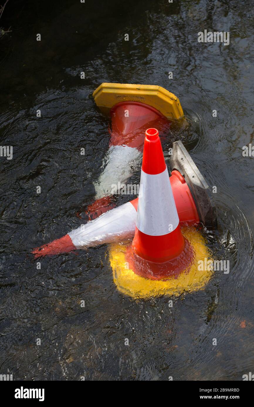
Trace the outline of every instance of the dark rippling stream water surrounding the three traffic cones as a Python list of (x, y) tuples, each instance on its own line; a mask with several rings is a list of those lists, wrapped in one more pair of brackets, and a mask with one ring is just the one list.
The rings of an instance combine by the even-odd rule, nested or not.
[[(0, 20), (12, 29), (0, 38), (0, 136), (13, 146), (13, 160), (0, 158), (0, 374), (242, 380), (253, 372), (254, 158), (242, 156), (253, 142), (253, 5), (8, 5)], [(204, 29), (230, 31), (230, 45), (199, 44)], [(156, 84), (179, 96), (190, 126), (172, 129), (163, 149), (183, 140), (217, 186), (219, 230), (203, 233), (214, 256), (230, 260), (230, 273), (218, 271), (205, 290), (172, 298), (172, 308), (166, 297), (135, 301), (119, 293), (106, 246), (44, 258), (40, 270), (29, 254), (80, 225), (76, 212), (93, 203), (109, 140), (108, 118), (92, 98), (102, 82)], [(118, 197), (117, 205), (129, 199)]]

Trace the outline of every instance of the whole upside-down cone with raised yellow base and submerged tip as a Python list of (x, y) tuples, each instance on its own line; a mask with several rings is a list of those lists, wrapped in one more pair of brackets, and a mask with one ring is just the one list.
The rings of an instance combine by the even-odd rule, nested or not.
[(139, 165), (145, 130), (157, 127), (161, 134), (168, 133), (172, 121), (183, 118), (179, 99), (160, 86), (102, 83), (93, 97), (112, 123), (102, 173), (94, 183), (95, 202), (86, 209), (89, 220), (115, 206), (114, 186), (125, 183)]

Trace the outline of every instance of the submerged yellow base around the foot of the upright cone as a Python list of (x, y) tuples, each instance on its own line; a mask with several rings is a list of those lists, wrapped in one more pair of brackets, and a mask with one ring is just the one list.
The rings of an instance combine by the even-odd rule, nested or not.
[[(183, 236), (190, 242), (194, 250), (193, 264), (190, 271), (185, 270), (177, 277), (168, 280), (150, 280), (140, 277), (128, 269), (125, 252), (128, 244), (114, 243), (110, 245), (110, 265), (113, 269), (113, 279), (117, 289), (133, 298), (150, 298), (160, 295), (180, 295), (184, 291), (202, 289), (212, 276), (212, 270), (201, 271), (199, 260), (206, 264), (205, 258), (211, 260), (205, 239), (194, 228), (183, 228)], [(208, 267), (209, 268), (209, 267)]]

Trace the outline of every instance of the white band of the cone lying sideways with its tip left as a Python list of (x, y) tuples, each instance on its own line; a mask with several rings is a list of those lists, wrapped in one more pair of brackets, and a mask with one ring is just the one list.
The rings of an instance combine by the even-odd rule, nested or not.
[(129, 239), (135, 233), (136, 217), (134, 206), (127, 202), (72, 230), (68, 235), (77, 249)]

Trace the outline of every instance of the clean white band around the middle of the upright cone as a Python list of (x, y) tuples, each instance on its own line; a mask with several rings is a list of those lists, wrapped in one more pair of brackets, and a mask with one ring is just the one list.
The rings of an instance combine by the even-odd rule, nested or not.
[(150, 236), (162, 236), (175, 230), (179, 224), (179, 217), (174, 203), (168, 168), (155, 175), (141, 170), (139, 191), (138, 230)]

